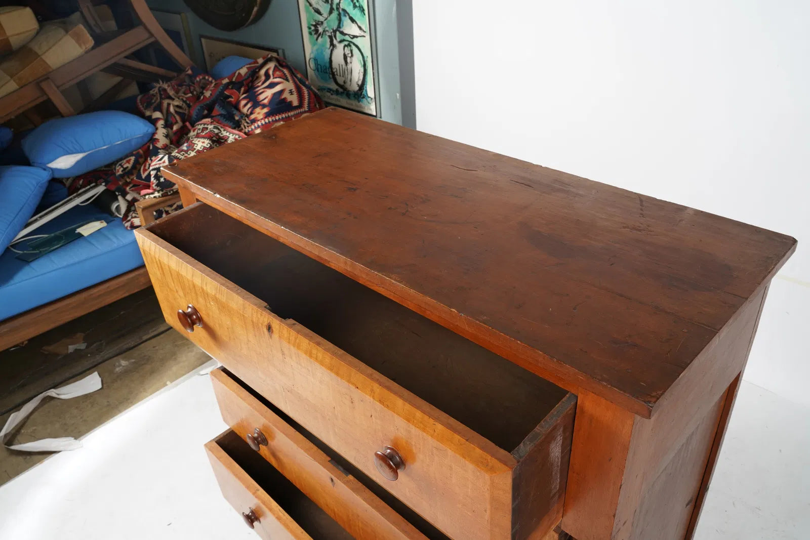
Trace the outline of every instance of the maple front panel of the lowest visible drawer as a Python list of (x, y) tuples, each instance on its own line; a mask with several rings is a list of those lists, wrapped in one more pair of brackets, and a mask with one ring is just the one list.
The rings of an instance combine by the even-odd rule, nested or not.
[(205, 445), (208, 460), (225, 500), (250, 522), (265, 540), (312, 540), (288, 513), (242, 470), (228, 453), (211, 440)]

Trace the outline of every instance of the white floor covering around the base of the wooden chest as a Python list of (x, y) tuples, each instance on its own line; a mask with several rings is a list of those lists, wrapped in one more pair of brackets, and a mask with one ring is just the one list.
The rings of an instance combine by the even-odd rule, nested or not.
[[(810, 538), (810, 410), (744, 383), (698, 540)], [(224, 431), (191, 376), (0, 487), (0, 538), (258, 538), (222, 499), (203, 444)]]

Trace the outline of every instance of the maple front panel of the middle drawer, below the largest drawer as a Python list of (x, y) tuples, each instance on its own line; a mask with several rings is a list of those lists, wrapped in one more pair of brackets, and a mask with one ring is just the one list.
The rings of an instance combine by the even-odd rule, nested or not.
[(330, 463), (325, 453), (221, 368), (211, 372), (211, 382), (225, 423), (243, 439), (249, 436), (262, 457), (352, 536), (363, 540), (424, 540), (413, 525), (356, 478)]

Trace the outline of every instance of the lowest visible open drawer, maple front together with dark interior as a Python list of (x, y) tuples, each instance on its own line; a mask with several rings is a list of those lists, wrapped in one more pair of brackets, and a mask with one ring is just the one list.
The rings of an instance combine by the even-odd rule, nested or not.
[(353, 538), (234, 432), (205, 445), (225, 500), (266, 540)]

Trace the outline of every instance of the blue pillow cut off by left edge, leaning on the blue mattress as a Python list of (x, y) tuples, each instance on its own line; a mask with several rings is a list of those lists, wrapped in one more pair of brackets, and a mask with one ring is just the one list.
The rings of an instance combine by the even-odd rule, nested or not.
[(34, 215), (50, 178), (51, 173), (45, 168), (0, 167), (0, 253)]

